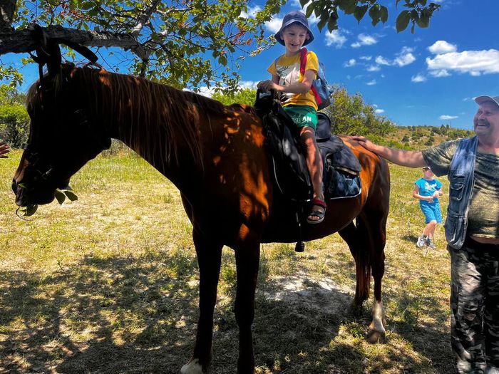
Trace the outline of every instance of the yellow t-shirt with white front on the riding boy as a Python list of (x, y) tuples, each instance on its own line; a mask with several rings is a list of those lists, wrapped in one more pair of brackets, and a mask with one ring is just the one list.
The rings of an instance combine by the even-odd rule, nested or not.
[[(274, 61), (267, 69), (272, 76), (279, 76), (279, 85), (291, 85), (292, 83), (302, 82), (303, 76), (299, 72), (299, 56), (287, 57), (282, 55)], [(317, 78), (317, 71), (319, 70), (319, 60), (317, 55), (308, 51), (307, 63), (305, 64), (305, 71), (312, 70), (316, 73), (314, 78)], [(307, 93), (282, 93), (282, 105), (309, 105), (317, 110), (317, 103), (315, 101), (312, 90)]]

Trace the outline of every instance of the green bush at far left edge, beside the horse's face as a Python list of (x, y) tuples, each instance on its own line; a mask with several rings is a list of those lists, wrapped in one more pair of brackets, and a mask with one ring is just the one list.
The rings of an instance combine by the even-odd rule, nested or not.
[(15, 88), (0, 85), (0, 138), (12, 147), (20, 147), (28, 137), (29, 115), (24, 99)]

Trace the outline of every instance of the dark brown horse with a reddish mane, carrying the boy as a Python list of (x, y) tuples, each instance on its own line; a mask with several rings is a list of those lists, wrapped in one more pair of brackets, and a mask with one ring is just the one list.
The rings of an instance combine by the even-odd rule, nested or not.
[[(95, 68), (61, 66), (31, 87), (29, 145), (12, 188), (16, 204), (45, 204), (88, 160), (122, 140), (168, 177), (182, 194), (200, 268), (200, 317), (192, 359), (182, 373), (205, 373), (211, 359), (213, 311), (222, 246), (235, 251), (240, 328), (238, 373), (254, 372), (251, 326), (260, 244), (297, 241), (294, 214), (274, 193), (262, 123), (252, 108), (225, 106), (195, 93)], [(370, 341), (384, 339), (381, 278), (389, 209), (384, 160), (344, 138), (362, 166), (359, 197), (329, 202), (321, 224), (303, 239), (339, 232), (356, 261), (354, 304), (369, 296)], [(355, 220), (355, 224), (354, 224)]]

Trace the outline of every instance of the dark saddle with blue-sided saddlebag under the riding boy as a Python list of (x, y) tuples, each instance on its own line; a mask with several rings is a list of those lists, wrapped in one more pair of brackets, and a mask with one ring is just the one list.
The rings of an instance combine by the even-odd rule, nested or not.
[[(311, 202), (312, 180), (306, 157), (299, 142), (299, 134), (292, 119), (274, 95), (257, 91), (254, 105), (262, 118), (265, 145), (271, 156), (274, 183), (281, 194), (295, 202)], [(361, 193), (359, 160), (344, 142), (331, 135), (331, 121), (324, 113), (317, 113), (319, 123), (315, 133), (324, 162), (324, 197), (326, 200), (356, 197)]]

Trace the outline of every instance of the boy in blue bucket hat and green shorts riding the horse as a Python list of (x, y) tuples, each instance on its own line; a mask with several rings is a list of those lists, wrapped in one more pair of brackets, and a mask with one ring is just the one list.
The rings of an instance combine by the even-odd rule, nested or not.
[(314, 52), (307, 53), (304, 74), (300, 73), (300, 51), (302, 46), (314, 40), (314, 34), (310, 31), (307, 17), (300, 11), (292, 11), (284, 16), (282, 26), (274, 38), (286, 48), (286, 52), (267, 69), (272, 74), (272, 80), (263, 80), (258, 83), (258, 88), (282, 93), (282, 107), (297, 126), (314, 187), (314, 199), (307, 222), (318, 224), (324, 220), (326, 203), (322, 191), (321, 154), (315, 142), (317, 102), (311, 87), (319, 70), (319, 61)]

